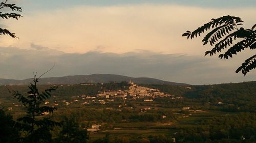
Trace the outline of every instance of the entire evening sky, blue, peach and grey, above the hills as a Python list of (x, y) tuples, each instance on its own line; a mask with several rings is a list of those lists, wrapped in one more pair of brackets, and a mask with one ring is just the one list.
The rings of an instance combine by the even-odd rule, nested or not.
[[(235, 73), (252, 50), (230, 60), (204, 56), (202, 38), (181, 35), (211, 18), (241, 17), (255, 23), (256, 1), (9, 0), (23, 8), (19, 20), (1, 20), (19, 38), (0, 36), (0, 78), (120, 74), (188, 84), (252, 81)], [(3, 10), (3, 12), (8, 12)]]

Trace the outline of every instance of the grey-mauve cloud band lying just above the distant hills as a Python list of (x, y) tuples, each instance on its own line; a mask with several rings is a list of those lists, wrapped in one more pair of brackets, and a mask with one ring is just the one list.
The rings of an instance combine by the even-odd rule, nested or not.
[(234, 73), (241, 62), (236, 58), (220, 61), (196, 55), (148, 51), (122, 54), (91, 51), (80, 54), (11, 47), (1, 47), (0, 53), (0, 78), (30, 78), (34, 71), (42, 74), (54, 63), (55, 67), (47, 77), (108, 73), (190, 84), (242, 82), (256, 78), (255, 71), (246, 77)]

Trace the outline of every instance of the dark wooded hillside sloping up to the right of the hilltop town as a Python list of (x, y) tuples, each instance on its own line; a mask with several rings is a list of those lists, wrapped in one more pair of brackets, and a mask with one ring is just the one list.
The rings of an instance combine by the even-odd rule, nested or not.
[[(256, 81), (213, 85), (147, 85), (162, 92), (182, 95), (189, 102), (225, 106), (228, 111), (256, 111)], [(224, 109), (224, 108), (223, 108)]]

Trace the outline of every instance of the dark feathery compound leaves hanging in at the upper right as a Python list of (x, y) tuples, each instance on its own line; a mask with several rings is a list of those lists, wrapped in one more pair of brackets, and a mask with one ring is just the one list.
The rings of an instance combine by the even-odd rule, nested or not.
[[(256, 24), (251, 29), (245, 29), (243, 27), (238, 28), (243, 24), (243, 20), (234, 16), (223, 16), (217, 19), (211, 19), (210, 22), (205, 23), (197, 30), (190, 32), (187, 31), (182, 36), (186, 36), (187, 39), (193, 39), (197, 36), (201, 36), (202, 33), (211, 30), (203, 38), (203, 45), (210, 44), (213, 48), (205, 52), (205, 55), (210, 56), (222, 52), (224, 48), (228, 48), (226, 52), (219, 55), (220, 59), (232, 58), (233, 54), (241, 52), (246, 48), (256, 48)], [(237, 40), (237, 43), (234, 41)], [(242, 71), (244, 76), (250, 70), (256, 68), (256, 54), (245, 60), (244, 63), (236, 70), (236, 73)]]

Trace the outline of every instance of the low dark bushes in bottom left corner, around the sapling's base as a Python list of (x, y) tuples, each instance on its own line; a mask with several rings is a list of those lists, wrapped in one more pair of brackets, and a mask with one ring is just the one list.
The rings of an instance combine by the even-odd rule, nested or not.
[[(3, 143), (86, 143), (89, 135), (87, 130), (81, 126), (75, 118), (62, 116), (59, 125), (49, 125), (45, 119), (39, 120), (35, 124), (42, 123), (39, 127), (35, 125), (35, 131), (29, 129), (30, 122), (25, 122), (20, 126), (19, 121), (12, 119), (12, 116), (0, 109), (0, 142)], [(39, 130), (38, 130), (39, 129)]]

